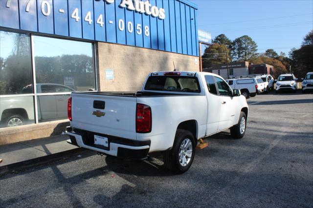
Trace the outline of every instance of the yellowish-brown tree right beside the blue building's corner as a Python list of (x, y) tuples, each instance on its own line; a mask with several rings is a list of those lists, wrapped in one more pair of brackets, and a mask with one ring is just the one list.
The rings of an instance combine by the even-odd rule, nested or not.
[(219, 43), (214, 43), (205, 48), (202, 56), (202, 68), (209, 68), (212, 64), (226, 63), (226, 52), (229, 57), (229, 49)]

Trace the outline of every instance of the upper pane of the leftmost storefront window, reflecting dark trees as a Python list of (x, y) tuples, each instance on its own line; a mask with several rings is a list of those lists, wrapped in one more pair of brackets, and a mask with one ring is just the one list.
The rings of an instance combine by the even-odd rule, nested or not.
[(29, 35), (0, 31), (0, 95), (33, 93)]

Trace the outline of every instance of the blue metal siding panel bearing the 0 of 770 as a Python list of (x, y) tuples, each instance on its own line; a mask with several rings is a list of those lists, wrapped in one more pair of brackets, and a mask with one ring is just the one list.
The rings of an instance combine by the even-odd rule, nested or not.
[[(43, 2), (47, 2), (48, 4), (45, 4)], [(50, 14), (48, 16), (45, 16), (43, 13), (43, 9), (45, 9), (45, 12), (48, 12), (48, 7), (50, 7)], [(38, 0), (37, 8), (38, 31), (41, 33), (54, 34), (52, 0)]]

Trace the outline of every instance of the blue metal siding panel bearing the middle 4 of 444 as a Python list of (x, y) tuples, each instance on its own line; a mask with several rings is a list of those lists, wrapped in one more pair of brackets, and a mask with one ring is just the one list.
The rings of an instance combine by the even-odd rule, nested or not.
[[(85, 21), (87, 13), (90, 12), (91, 22)], [(93, 19), (93, 3), (92, 0), (82, 0), (82, 22), (83, 22), (83, 38), (94, 40), (94, 20)]]

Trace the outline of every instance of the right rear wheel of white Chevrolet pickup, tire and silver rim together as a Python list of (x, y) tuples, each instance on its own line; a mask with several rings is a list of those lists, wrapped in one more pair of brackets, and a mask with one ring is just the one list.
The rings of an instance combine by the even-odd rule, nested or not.
[(163, 154), (164, 166), (176, 173), (184, 173), (195, 156), (196, 142), (190, 131), (178, 129), (171, 150)]

